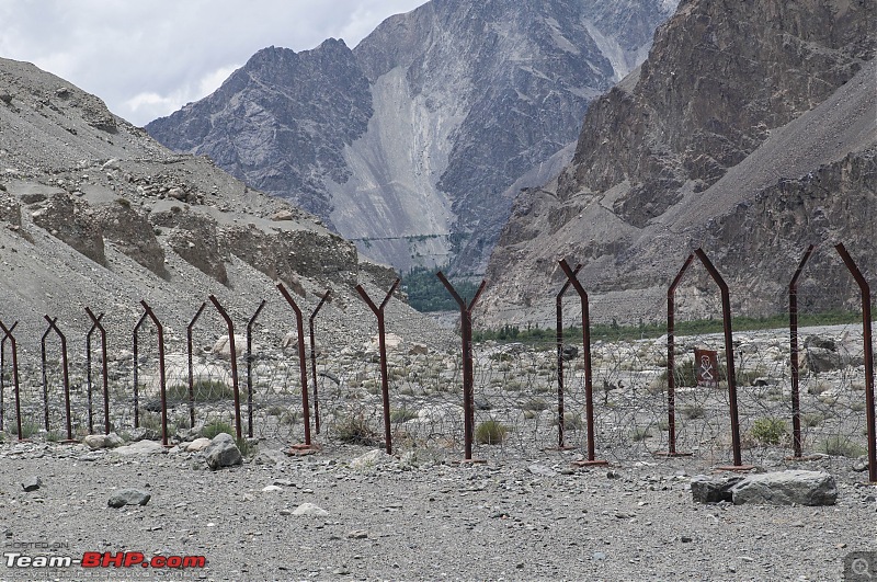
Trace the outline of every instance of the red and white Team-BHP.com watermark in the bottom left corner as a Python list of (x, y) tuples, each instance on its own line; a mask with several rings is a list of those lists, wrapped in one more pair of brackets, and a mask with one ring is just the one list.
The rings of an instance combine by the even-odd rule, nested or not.
[(72, 556), (64, 550), (66, 543), (26, 541), (7, 544), (3, 563), (7, 568), (20, 570), (58, 570), (62, 568), (83, 568), (91, 571), (107, 569), (169, 569), (189, 570), (204, 568), (204, 556), (151, 556), (140, 551), (87, 551)]

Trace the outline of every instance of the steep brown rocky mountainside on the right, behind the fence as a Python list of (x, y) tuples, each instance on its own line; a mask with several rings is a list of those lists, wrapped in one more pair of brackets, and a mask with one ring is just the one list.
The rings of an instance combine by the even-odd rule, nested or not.
[[(488, 269), (490, 320), (553, 321), (561, 256), (585, 263), (599, 316), (634, 321), (660, 317), (698, 246), (753, 315), (785, 309), (808, 243), (843, 241), (874, 281), (874, 13), (870, 0), (683, 2), (591, 106), (572, 163), (519, 197)], [(857, 297), (825, 248), (808, 269), (831, 284), (809, 288)], [(710, 285), (690, 313), (707, 313)]]

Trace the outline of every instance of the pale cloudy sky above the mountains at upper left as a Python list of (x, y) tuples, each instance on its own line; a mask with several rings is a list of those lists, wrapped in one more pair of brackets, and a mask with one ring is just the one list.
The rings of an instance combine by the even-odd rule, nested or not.
[(356, 44), (425, 0), (2, 0), (0, 57), (26, 60), (146, 125), (206, 96), (260, 48)]

